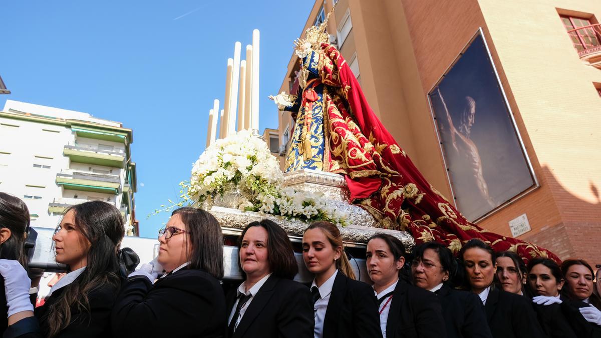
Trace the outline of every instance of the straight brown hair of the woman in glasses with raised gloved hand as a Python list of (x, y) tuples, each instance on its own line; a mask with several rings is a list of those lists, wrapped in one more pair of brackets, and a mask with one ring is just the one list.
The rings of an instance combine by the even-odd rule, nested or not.
[(224, 277), (224, 236), (216, 218), (203, 209), (180, 207), (171, 216), (180, 215), (192, 244), (190, 268), (201, 269), (215, 278)]

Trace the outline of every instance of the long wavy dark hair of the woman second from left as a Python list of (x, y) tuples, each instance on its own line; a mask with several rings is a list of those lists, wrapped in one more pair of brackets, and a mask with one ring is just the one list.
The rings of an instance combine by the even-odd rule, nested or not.
[(90, 312), (88, 295), (92, 290), (111, 286), (116, 293), (120, 286), (117, 251), (125, 233), (121, 213), (117, 207), (103, 201), (76, 204), (67, 208), (63, 215), (71, 211), (76, 230), (90, 241), (87, 266), (73, 283), (64, 287), (58, 300), (46, 311), (48, 337), (57, 336), (70, 324), (73, 308)]

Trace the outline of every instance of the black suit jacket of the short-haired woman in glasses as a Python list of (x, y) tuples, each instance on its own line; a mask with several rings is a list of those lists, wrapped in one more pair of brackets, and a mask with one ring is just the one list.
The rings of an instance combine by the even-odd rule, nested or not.
[(442, 284), (435, 293), (441, 301), (448, 338), (492, 338), (478, 295), (451, 289), (447, 284)]

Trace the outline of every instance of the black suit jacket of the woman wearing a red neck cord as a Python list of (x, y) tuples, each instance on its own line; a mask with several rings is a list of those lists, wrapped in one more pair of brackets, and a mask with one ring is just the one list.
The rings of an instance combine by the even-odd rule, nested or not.
[(438, 297), (398, 280), (386, 322), (386, 338), (447, 337)]

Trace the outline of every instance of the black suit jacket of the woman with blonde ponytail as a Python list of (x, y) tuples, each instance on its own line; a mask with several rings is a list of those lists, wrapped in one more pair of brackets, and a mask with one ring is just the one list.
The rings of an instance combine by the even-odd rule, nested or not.
[(338, 271), (323, 319), (323, 338), (382, 337), (374, 290)]

